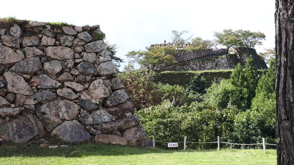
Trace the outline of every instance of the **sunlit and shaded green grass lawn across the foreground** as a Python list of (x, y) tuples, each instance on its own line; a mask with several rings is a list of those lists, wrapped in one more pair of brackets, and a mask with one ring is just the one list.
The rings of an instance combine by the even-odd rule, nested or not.
[[(128, 164), (197, 164), (242, 165), (277, 164), (276, 150), (268, 149), (216, 149), (211, 150), (162, 150), (158, 148), (121, 147), (101, 144), (68, 144), (61, 150), (26, 148), (24, 144), (2, 144), (1, 165), (128, 165)], [(74, 151), (74, 152), (72, 152)]]

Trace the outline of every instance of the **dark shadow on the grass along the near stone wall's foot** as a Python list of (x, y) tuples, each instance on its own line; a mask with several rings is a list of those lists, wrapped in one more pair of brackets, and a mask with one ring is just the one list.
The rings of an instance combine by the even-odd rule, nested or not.
[(23, 157), (82, 157), (82, 156), (119, 156), (139, 155), (148, 153), (173, 153), (173, 152), (214, 152), (211, 150), (164, 150), (159, 148), (139, 148), (128, 146), (102, 145), (97, 143), (68, 143), (67, 149), (49, 149), (36, 145), (36, 148), (26, 148), (25, 144), (5, 143), (0, 146), (0, 157), (23, 156)]

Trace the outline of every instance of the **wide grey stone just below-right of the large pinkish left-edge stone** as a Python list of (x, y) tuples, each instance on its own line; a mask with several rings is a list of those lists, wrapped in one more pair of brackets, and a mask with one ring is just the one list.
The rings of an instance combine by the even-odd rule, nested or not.
[(9, 69), (11, 72), (17, 72), (22, 74), (34, 74), (42, 69), (42, 64), (39, 57), (26, 58), (16, 63)]

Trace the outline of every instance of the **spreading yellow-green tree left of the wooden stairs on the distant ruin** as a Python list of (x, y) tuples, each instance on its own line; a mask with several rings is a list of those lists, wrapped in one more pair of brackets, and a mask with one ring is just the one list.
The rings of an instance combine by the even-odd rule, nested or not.
[(173, 55), (176, 54), (176, 49), (172, 46), (165, 47), (146, 47), (145, 51), (131, 51), (126, 54), (126, 57), (131, 59), (131, 63), (138, 63), (148, 70), (155, 70), (163, 63), (175, 63)]

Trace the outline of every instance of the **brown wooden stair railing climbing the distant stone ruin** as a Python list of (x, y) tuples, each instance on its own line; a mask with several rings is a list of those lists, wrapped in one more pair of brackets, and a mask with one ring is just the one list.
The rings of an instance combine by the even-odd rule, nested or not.
[[(176, 62), (181, 63), (181, 62), (193, 60), (193, 59), (196, 59), (196, 58), (204, 57), (204, 56), (207, 56), (207, 55), (220, 55), (220, 54), (223, 54), (223, 53), (228, 53), (228, 50), (227, 49), (207, 50), (207, 51), (204, 51), (204, 52), (195, 53), (195, 54), (192, 54), (192, 55), (187, 55), (187, 56), (184, 56), (184, 57), (176, 58)], [(162, 68), (162, 67), (165, 67), (165, 66), (168, 66), (168, 65), (172, 65), (172, 64), (171, 63), (163, 63), (163, 64), (158, 65), (158, 68)]]

